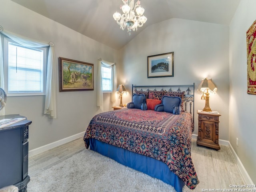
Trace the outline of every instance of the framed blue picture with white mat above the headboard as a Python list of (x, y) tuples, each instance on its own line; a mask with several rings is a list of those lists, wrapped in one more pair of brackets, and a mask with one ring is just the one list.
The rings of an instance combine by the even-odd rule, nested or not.
[(173, 77), (174, 52), (148, 56), (148, 78)]

